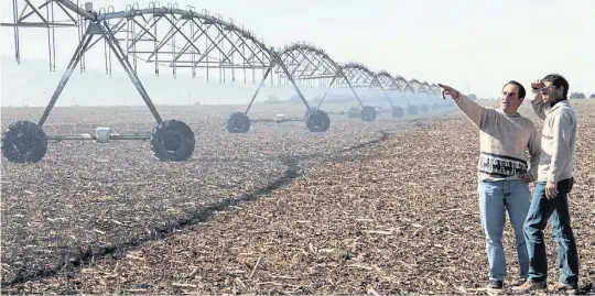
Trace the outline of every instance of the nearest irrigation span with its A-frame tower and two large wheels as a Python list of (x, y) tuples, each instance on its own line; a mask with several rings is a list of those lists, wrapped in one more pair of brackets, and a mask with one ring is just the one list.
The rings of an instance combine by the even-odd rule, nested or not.
[[(267, 47), (262, 40), (257, 40), (253, 33), (246, 31), (242, 26), (234, 24), (232, 21), (226, 22), (220, 17), (208, 15), (206, 11), (197, 13), (192, 7), (187, 7), (187, 10), (181, 10), (176, 4), (167, 4), (167, 8), (165, 8), (159, 7), (159, 4), (152, 2), (149, 4), (148, 9), (139, 9), (138, 4), (131, 4), (127, 7), (126, 11), (116, 12), (112, 7), (94, 11), (91, 2), (87, 2), (84, 6), (77, 6), (69, 0), (42, 0), (43, 2), (41, 2), (41, 4), (37, 2), (37, 6), (35, 6), (32, 2), (35, 0), (21, 1), (24, 1), (25, 3), (21, 15), (18, 14), (20, 2), (19, 0), (13, 0), (13, 23), (2, 23), (2, 26), (14, 28), (15, 57), (19, 64), (21, 61), (19, 28), (47, 28), (50, 70), (55, 70), (54, 28), (78, 28), (79, 43), (39, 122), (18, 122), (9, 127), (9, 130), (4, 133), (2, 152), (4, 156), (9, 154), (13, 155), (10, 157), (7, 156), (10, 161), (40, 161), (45, 155), (46, 144), (44, 143), (46, 143), (47, 140), (97, 140), (98, 142), (99, 140), (101, 142), (107, 142), (108, 140), (151, 140), (153, 151), (155, 151), (154, 145), (156, 144), (153, 143), (153, 140), (162, 138), (161, 140), (163, 141), (164, 138), (163, 134), (156, 134), (160, 129), (170, 129), (167, 130), (170, 133), (177, 132), (186, 136), (186, 142), (192, 143), (192, 150), (191, 150), (190, 153), (192, 154), (192, 151), (194, 150), (194, 133), (190, 127), (181, 121), (164, 121), (161, 118), (138, 76), (138, 59), (153, 63), (155, 65), (155, 75), (158, 76), (160, 74), (159, 66), (164, 63), (172, 68), (174, 77), (176, 76), (177, 68), (190, 68), (193, 77), (195, 77), (197, 68), (207, 68), (207, 80), (208, 68), (218, 68), (220, 74), (223, 73), (223, 75), (219, 75), (219, 79), (225, 79), (226, 72), (231, 72), (232, 80), (235, 80), (236, 70), (242, 70), (246, 74), (247, 69), (251, 69), (252, 74), (255, 74), (255, 69), (270, 72), (274, 65), (285, 68), (274, 50), (272, 47)], [(41, 12), (44, 8), (46, 10), (45, 18)], [(64, 14), (68, 17), (67, 22), (56, 21), (56, 8), (60, 8)], [(26, 11), (28, 9), (30, 10), (29, 13)], [(76, 18), (73, 17), (73, 14), (76, 15)], [(37, 18), (39, 21), (31, 21), (33, 18)], [(165, 30), (163, 30), (164, 28)], [(159, 35), (158, 31), (166, 33)], [(190, 34), (187, 31), (190, 31)], [(213, 31), (217, 32), (216, 37), (213, 36)], [(94, 40), (96, 36), (97, 39)], [(176, 45), (175, 36), (182, 40), (181, 46), (180, 43)], [(85, 54), (100, 41), (104, 41), (106, 74), (111, 74), (111, 57), (115, 56), (115, 59), (122, 66), (154, 117), (158, 123), (156, 131), (152, 134), (108, 134), (107, 139), (104, 139), (105, 135), (99, 135), (99, 131), (97, 131), (96, 134), (84, 135), (46, 135), (43, 132), (42, 127), (68, 83), (69, 77), (78, 65), (80, 65), (80, 72), (85, 72)], [(204, 46), (201, 46), (203, 44)], [(227, 46), (225, 46), (225, 44), (227, 44)], [(214, 52), (215, 54), (218, 53), (219, 56), (214, 57)], [(246, 77), (247, 75), (244, 75), (245, 81)], [(255, 75), (252, 77), (255, 77)], [(252, 80), (255, 80), (255, 78)], [(300, 89), (293, 79), (291, 79), (291, 76), (290, 80), (306, 105), (306, 108), (310, 109)], [(25, 125), (26, 128), (22, 128)], [(25, 131), (22, 131), (22, 129), (25, 129)], [(17, 146), (12, 142), (18, 141), (15, 139), (20, 136), (22, 138), (23, 132), (35, 133), (36, 136), (43, 138), (40, 140), (41, 142), (36, 142), (39, 145), (42, 145), (42, 147), (41, 150), (37, 150), (39, 153), (36, 152), (36, 156), (34, 157), (23, 156), (26, 154), (25, 152), (21, 153), (20, 151), (15, 151)], [(154, 141), (158, 140), (160, 139)], [(167, 143), (161, 143), (160, 145), (160, 149), (163, 150)], [(29, 151), (31, 151), (30, 146), (28, 146)], [(6, 151), (12, 152), (9, 153)], [(155, 155), (158, 152), (155, 152)], [(163, 160), (160, 155), (156, 156), (158, 158)], [(181, 158), (182, 156), (177, 155), (175, 157)]]

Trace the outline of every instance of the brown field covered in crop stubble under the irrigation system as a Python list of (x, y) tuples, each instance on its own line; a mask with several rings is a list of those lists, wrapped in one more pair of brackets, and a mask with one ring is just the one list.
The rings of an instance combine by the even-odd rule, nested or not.
[[(573, 103), (571, 211), (585, 285), (595, 279), (595, 101)], [(541, 128), (528, 107), (522, 113)], [(326, 133), (285, 122), (229, 134), (225, 118), (235, 108), (159, 110), (194, 129), (191, 162), (159, 163), (138, 141), (65, 141), (37, 164), (2, 160), (4, 292), (485, 293), (478, 136), (459, 112), (372, 123), (332, 116)], [(41, 112), (3, 109), (2, 125)], [(143, 107), (62, 108), (44, 129), (125, 133), (152, 122)], [(505, 238), (516, 277), (509, 224)], [(554, 279), (550, 227), (547, 239)]]

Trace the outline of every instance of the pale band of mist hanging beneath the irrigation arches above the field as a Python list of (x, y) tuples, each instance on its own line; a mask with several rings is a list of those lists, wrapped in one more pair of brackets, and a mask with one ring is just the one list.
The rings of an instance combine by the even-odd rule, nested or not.
[[(43, 59), (23, 59), (21, 65), (17, 65), (13, 57), (3, 55), (2, 88), (0, 90), (2, 107), (45, 107), (64, 72), (63, 67), (57, 67), (56, 72), (48, 72), (46, 64)], [(111, 77), (98, 69), (87, 69), (83, 74), (76, 69), (56, 101), (56, 107), (144, 106), (129, 77), (117, 66), (119, 65), (113, 66), (115, 70)], [(262, 72), (258, 70), (257, 73), (261, 74)], [(140, 74), (139, 76), (152, 101), (158, 106), (234, 105), (242, 106), (241, 108), (245, 109), (260, 83), (260, 78), (258, 78), (256, 83), (249, 79), (247, 83), (238, 80), (220, 84), (218, 80), (206, 81), (204, 78), (192, 78), (187, 74), (180, 74), (173, 78), (171, 73), (163, 73), (161, 76), (151, 74)], [(301, 85), (300, 81), (299, 85)], [(300, 90), (309, 101), (312, 101), (325, 94), (326, 86), (301, 86)], [(357, 87), (355, 91), (365, 105), (385, 108), (390, 106), (377, 87)], [(408, 102), (433, 103), (437, 101), (434, 94), (428, 96), (425, 94), (415, 95), (387, 90), (387, 95), (394, 106), (402, 108), (405, 108)], [(268, 79), (264, 87), (260, 89), (256, 101), (262, 102), (269, 100), (270, 97), (288, 101), (292, 98), (298, 99), (296, 96), (295, 89), (290, 84), (279, 86), (275, 80), (271, 86), (270, 79)], [(336, 102), (335, 97), (339, 97), (342, 101)], [(358, 102), (350, 89), (332, 87), (322, 109), (327, 106), (350, 108), (358, 107)], [(295, 108), (305, 110), (301, 102), (298, 102)]]

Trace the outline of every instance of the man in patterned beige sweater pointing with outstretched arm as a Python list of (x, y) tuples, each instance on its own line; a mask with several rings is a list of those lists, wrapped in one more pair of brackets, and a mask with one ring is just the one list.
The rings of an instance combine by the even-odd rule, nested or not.
[[(442, 96), (448, 95), (456, 106), (479, 129), (479, 162), (477, 167), (479, 211), (487, 239), (489, 289), (501, 289), (506, 277), (502, 232), (506, 210), (515, 230), (520, 277), (529, 273), (529, 255), (523, 237), (523, 222), (530, 206), (528, 183), (537, 179), (541, 154), (541, 138), (534, 123), (518, 113), (524, 87), (511, 80), (500, 96), (498, 109), (470, 100), (458, 90), (439, 85)], [(530, 163), (527, 162), (527, 150)]]

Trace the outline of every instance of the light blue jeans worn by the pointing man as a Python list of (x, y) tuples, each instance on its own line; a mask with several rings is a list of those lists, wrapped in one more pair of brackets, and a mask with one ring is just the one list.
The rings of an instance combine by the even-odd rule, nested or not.
[(489, 278), (504, 281), (506, 277), (506, 255), (502, 245), (502, 232), (506, 210), (515, 230), (520, 276), (527, 277), (529, 255), (522, 232), (522, 226), (529, 211), (531, 191), (522, 180), (479, 182), (479, 212), (486, 233), (486, 249), (489, 263)]

